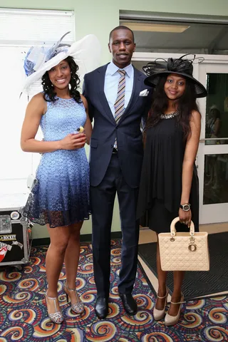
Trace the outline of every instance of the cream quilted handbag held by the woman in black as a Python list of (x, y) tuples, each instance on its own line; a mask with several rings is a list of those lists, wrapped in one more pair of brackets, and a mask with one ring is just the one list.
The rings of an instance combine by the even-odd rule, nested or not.
[(209, 271), (207, 232), (195, 232), (191, 221), (190, 232), (176, 232), (172, 220), (170, 233), (158, 234), (162, 271)]

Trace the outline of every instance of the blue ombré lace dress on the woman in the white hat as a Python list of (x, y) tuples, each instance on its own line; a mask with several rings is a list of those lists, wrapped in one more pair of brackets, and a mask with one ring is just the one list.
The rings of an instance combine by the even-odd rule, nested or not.
[[(44, 140), (55, 141), (85, 123), (83, 103), (58, 98), (55, 103), (47, 102), (40, 125)], [(43, 153), (36, 179), (24, 207), (24, 216), (31, 222), (59, 227), (89, 218), (89, 165), (85, 148)]]

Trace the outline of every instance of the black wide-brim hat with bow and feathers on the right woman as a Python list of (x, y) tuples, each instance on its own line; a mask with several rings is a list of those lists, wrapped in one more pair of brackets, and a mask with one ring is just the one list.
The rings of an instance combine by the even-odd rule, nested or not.
[[(187, 56), (187, 55), (185, 55)], [(207, 96), (207, 90), (206, 88), (197, 81), (193, 76), (193, 61), (194, 60), (188, 60), (188, 59), (182, 59), (182, 56), (180, 58), (174, 59), (174, 58), (168, 58), (167, 61), (165, 61), (164, 64), (155, 62), (147, 63), (146, 66), (143, 66), (142, 69), (145, 71), (146, 75), (148, 76), (145, 78), (144, 83), (146, 86), (150, 87), (156, 87), (157, 83), (160, 81), (160, 76), (170, 75), (170, 73), (175, 73), (177, 75), (183, 76), (187, 78), (187, 80), (190, 80), (195, 85), (195, 95), (197, 98), (204, 98)]]

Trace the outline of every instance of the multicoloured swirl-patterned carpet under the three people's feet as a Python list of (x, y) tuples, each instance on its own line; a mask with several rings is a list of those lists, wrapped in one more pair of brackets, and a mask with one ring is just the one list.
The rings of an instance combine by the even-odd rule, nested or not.
[(154, 321), (152, 309), (155, 296), (138, 267), (134, 295), (138, 314), (125, 314), (116, 286), (120, 266), (120, 240), (112, 241), (111, 293), (108, 317), (99, 321), (95, 316), (95, 284), (91, 245), (81, 244), (77, 288), (86, 304), (82, 316), (73, 314), (66, 303), (63, 267), (58, 282), (59, 300), (65, 316), (61, 325), (53, 324), (46, 314), (45, 254), (47, 247), (31, 251), (30, 264), (23, 271), (12, 267), (0, 269), (0, 342), (187, 342), (228, 341), (228, 296), (187, 302), (180, 322), (170, 328), (164, 321)]

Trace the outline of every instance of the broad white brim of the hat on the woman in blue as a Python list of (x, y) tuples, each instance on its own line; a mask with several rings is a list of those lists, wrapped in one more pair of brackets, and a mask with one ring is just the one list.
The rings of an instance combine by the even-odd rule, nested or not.
[(66, 51), (61, 51), (49, 61), (43, 63), (37, 71), (26, 78), (22, 91), (28, 92), (31, 84), (39, 81), (46, 71), (57, 66), (58, 63), (68, 56), (73, 57), (74, 61), (76, 61), (80, 73), (79, 76), (82, 79), (85, 73), (93, 71), (100, 64), (101, 48), (98, 38), (93, 34), (89, 34), (80, 41), (73, 43)]

